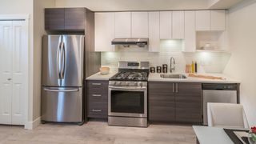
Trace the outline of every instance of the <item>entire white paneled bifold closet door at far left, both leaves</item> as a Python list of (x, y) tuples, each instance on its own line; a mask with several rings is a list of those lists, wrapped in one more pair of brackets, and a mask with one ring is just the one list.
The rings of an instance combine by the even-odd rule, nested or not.
[(28, 37), (25, 21), (0, 22), (0, 123), (25, 124), (28, 94)]

